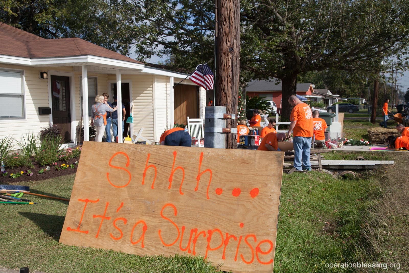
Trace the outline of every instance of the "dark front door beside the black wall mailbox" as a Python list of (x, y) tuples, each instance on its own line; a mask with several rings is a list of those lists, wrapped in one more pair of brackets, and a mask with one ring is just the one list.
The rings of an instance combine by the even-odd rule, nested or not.
[(52, 122), (65, 143), (71, 142), (70, 77), (51, 76)]

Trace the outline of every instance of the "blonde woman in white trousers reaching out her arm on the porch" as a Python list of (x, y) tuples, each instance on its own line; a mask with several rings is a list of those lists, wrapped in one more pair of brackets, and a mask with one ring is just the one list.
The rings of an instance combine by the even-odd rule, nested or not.
[(106, 126), (106, 113), (113, 112), (115, 110), (117, 110), (117, 107), (111, 108), (104, 103), (103, 95), (97, 95), (95, 97), (95, 104), (91, 107), (91, 125), (94, 125), (97, 131), (97, 137), (95, 138), (95, 141), (102, 142), (102, 136), (105, 132)]

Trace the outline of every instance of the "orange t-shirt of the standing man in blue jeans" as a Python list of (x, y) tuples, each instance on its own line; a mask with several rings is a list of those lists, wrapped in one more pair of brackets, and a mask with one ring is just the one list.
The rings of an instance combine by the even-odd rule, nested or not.
[(292, 108), (290, 121), (294, 120), (297, 120), (297, 123), (293, 129), (293, 136), (312, 137), (314, 134), (312, 112), (308, 104), (301, 102)]

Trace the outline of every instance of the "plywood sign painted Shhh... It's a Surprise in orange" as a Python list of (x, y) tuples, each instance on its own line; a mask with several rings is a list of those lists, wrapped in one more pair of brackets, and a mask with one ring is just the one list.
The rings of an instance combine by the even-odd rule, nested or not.
[(272, 272), (283, 152), (85, 142), (60, 243)]

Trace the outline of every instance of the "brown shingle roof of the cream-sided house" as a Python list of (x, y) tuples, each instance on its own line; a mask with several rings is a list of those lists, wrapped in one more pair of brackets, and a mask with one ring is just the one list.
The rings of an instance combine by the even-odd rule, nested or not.
[(44, 39), (1, 22), (0, 54), (32, 59), (92, 55), (143, 64), (80, 38)]

